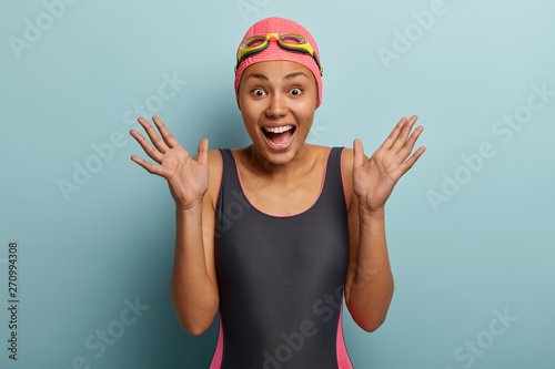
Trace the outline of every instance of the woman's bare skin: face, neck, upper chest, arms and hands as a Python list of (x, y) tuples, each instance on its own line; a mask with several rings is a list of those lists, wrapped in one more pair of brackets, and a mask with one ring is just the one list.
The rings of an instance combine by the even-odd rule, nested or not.
[[(330, 152), (330, 147), (305, 142), (317, 102), (312, 72), (287, 61), (252, 64), (243, 72), (238, 98), (252, 140), (251, 145), (233, 150), (245, 195), (272, 215), (305, 211), (317, 198)], [(343, 154), (350, 228), (345, 303), (354, 321), (366, 331), (383, 324), (393, 296), (384, 207), (395, 184), (425, 151), (422, 146), (411, 155), (423, 131), (417, 126), (411, 133), (416, 119), (402, 119), (370, 158), (357, 139)], [(211, 326), (219, 308), (214, 208), (221, 157), (218, 151), (208, 150), (206, 139), (192, 157), (158, 117), (153, 122), (161, 135), (139, 119), (152, 144), (135, 130), (130, 133), (157, 164), (135, 155), (131, 158), (149, 173), (164, 177), (170, 186), (176, 212), (170, 293), (182, 327), (200, 335)], [(283, 146), (270, 144), (262, 131), (268, 124), (292, 125), (291, 141)]]

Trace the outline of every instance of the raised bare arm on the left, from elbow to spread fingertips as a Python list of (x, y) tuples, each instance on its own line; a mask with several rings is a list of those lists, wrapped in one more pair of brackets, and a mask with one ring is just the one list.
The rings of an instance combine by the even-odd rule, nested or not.
[[(131, 160), (149, 173), (168, 181), (175, 202), (175, 254), (170, 284), (170, 295), (179, 321), (193, 336), (204, 332), (219, 307), (218, 281), (214, 265), (214, 163), (209, 160), (208, 140), (199, 144), (199, 154), (192, 157), (171, 135), (165, 125), (154, 116), (152, 125), (140, 117), (152, 145), (135, 130), (130, 134), (157, 164), (133, 155)], [(210, 163), (209, 163), (210, 162)]]

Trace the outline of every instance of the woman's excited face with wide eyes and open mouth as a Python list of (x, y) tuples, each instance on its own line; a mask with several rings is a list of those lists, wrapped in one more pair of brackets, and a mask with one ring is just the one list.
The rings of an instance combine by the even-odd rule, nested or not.
[(254, 63), (241, 75), (239, 105), (254, 148), (273, 164), (286, 164), (304, 146), (312, 126), (316, 80), (295, 62)]

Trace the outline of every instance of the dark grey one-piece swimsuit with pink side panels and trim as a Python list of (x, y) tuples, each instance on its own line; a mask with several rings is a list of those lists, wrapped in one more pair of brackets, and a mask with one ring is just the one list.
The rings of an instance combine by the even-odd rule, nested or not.
[(255, 208), (233, 153), (220, 150), (220, 335), (211, 369), (352, 368), (341, 324), (349, 260), (343, 150), (331, 150), (314, 204), (291, 216)]

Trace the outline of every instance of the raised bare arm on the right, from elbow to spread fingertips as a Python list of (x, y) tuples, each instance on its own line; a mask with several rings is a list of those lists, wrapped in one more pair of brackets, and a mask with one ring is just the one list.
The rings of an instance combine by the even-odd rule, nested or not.
[[(385, 202), (398, 180), (426, 150), (411, 155), (423, 127), (411, 134), (416, 116), (402, 119), (369, 160), (360, 140), (347, 157), (350, 257), (345, 278), (345, 304), (353, 320), (366, 331), (377, 329), (393, 297), (393, 275), (385, 239)], [(408, 157), (408, 158), (407, 158)], [(349, 166), (352, 174), (349, 173)]]

